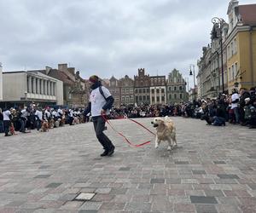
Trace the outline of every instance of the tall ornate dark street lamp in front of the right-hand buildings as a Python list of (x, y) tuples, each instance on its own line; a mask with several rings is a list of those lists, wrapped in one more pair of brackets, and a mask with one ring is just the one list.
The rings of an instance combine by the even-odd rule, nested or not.
[[(214, 17), (212, 18), (213, 24), (213, 32), (212, 32), (212, 39), (219, 38), (220, 39), (220, 55), (221, 55), (221, 73), (222, 73), (222, 93), (224, 93), (224, 67), (223, 67), (223, 41), (222, 41), (222, 26), (224, 24), (224, 20), (222, 18)], [(219, 29), (219, 35), (216, 31), (216, 26)]]

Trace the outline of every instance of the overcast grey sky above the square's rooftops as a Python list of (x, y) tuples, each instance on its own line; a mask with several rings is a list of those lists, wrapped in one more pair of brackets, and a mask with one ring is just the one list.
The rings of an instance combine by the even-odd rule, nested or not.
[(210, 42), (212, 17), (227, 20), (229, 2), (0, 0), (0, 61), (4, 72), (68, 63), (83, 78), (133, 78), (139, 67), (187, 77)]

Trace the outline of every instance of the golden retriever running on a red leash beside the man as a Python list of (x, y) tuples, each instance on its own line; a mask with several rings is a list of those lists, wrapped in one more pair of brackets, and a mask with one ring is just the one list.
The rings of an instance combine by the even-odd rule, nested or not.
[(167, 150), (172, 150), (173, 147), (177, 147), (176, 127), (171, 118), (168, 116), (165, 118), (154, 118), (151, 124), (153, 124), (156, 129), (155, 148), (160, 145), (160, 141), (168, 141)]

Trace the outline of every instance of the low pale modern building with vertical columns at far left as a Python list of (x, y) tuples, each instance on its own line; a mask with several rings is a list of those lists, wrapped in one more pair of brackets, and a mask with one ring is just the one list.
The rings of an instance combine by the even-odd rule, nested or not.
[(63, 104), (63, 83), (42, 72), (3, 72), (1, 106), (24, 106), (31, 102), (41, 107)]

